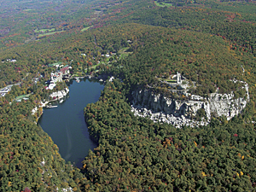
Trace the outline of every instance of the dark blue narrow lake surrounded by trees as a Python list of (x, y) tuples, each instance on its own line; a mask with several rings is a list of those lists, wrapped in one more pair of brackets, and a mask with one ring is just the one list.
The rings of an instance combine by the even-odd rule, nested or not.
[(96, 148), (84, 121), (84, 108), (98, 101), (104, 86), (98, 81), (84, 79), (80, 83), (70, 81), (68, 88), (67, 99), (58, 103), (58, 108), (44, 108), (38, 124), (59, 147), (61, 157), (81, 167), (89, 149)]

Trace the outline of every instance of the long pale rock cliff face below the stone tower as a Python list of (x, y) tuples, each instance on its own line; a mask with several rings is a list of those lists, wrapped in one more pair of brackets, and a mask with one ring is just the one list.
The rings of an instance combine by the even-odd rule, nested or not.
[[(208, 98), (192, 95), (187, 101), (154, 94), (151, 90), (136, 90), (133, 92), (131, 110), (137, 116), (148, 117), (154, 121), (177, 125), (177, 127), (207, 125), (211, 114), (218, 117), (224, 115), (230, 120), (241, 113), (249, 101), (247, 83), (244, 83), (243, 89), (246, 90), (244, 98), (235, 99), (233, 93), (223, 95), (213, 93)], [(196, 121), (193, 118), (201, 108), (206, 115), (201, 121)]]

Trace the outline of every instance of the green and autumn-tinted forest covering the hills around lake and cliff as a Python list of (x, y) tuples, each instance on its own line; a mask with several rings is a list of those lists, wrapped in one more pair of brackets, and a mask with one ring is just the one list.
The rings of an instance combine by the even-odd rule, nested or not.
[[(0, 1), (0, 87), (20, 84), (0, 97), (0, 190), (254, 191), (255, 10), (253, 1)], [(74, 76), (115, 77), (84, 106), (98, 146), (82, 168), (61, 158), (32, 113), (67, 86), (44, 89), (57, 61)], [(234, 79), (247, 82), (250, 102), (195, 128), (131, 113), (133, 90), (175, 98), (159, 79), (177, 72), (200, 96), (241, 97)]]

